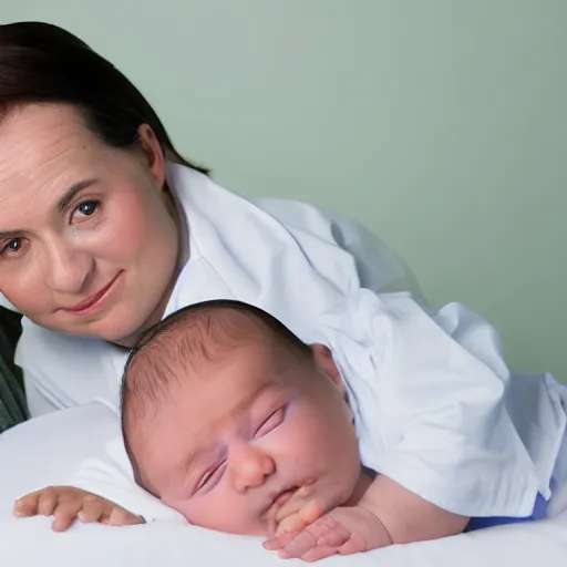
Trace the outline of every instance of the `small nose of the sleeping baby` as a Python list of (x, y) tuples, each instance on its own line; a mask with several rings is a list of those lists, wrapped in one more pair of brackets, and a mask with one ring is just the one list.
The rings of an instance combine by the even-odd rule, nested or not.
[(265, 451), (243, 444), (229, 455), (230, 475), (237, 492), (261, 486), (276, 472), (276, 463)]

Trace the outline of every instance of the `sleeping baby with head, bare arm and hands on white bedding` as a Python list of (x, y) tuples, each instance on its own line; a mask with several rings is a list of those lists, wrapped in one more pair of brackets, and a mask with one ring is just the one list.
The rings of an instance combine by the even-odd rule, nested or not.
[[(245, 303), (200, 303), (154, 328), (126, 364), (122, 426), (142, 487), (192, 524), (270, 536), (265, 546), (281, 557), (315, 560), (478, 527), (386, 476), (368, 498), (380, 471), (361, 464), (330, 349), (302, 343)], [(538, 503), (525, 519), (544, 515)], [(17, 513), (54, 513), (56, 520), (61, 504), (63, 529), (74, 517), (143, 522), (66, 487), (22, 498)]]

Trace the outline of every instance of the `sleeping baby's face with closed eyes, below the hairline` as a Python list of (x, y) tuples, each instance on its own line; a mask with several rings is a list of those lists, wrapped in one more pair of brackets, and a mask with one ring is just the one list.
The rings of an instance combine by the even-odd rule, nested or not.
[(317, 352), (321, 369), (266, 344), (204, 362), (132, 447), (146, 485), (192, 524), (248, 535), (267, 535), (302, 487), (346, 503), (360, 477), (357, 436), (332, 358)]

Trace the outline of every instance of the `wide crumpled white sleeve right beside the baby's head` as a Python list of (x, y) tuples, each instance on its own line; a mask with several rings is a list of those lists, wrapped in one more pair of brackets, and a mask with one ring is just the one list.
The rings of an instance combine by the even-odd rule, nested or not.
[(320, 329), (347, 382), (363, 463), (466, 516), (529, 516), (532, 460), (506, 409), (497, 337), (461, 306), (361, 289)]

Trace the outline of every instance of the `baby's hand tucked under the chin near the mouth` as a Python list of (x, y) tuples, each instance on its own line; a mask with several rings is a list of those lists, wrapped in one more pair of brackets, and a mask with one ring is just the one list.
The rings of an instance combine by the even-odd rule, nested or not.
[[(361, 506), (337, 507), (305, 526), (315, 508), (282, 520), (275, 537), (265, 542), (281, 559), (317, 561), (331, 555), (351, 555), (392, 544), (383, 524)], [(293, 529), (295, 528), (295, 529)]]

